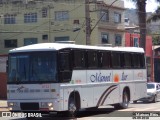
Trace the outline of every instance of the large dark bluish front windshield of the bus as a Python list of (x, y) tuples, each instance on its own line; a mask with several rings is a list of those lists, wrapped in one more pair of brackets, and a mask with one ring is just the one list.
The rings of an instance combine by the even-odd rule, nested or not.
[(9, 54), (8, 83), (57, 82), (56, 52)]

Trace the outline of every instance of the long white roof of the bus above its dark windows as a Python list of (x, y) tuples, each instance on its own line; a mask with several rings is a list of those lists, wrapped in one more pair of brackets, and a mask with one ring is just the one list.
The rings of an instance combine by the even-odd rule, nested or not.
[(144, 53), (143, 48), (137, 47), (104, 47), (104, 46), (90, 46), (90, 45), (76, 45), (76, 44), (64, 44), (64, 43), (39, 43), (28, 46), (15, 48), (9, 51), (9, 53), (15, 52), (32, 52), (32, 51), (56, 51), (65, 48), (71, 49), (94, 49), (94, 50), (110, 50), (110, 51), (126, 51), (126, 52), (140, 52)]

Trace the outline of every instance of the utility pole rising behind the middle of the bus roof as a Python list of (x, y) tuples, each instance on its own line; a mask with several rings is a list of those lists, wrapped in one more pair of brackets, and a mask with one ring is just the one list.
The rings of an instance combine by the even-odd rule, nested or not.
[(85, 0), (85, 18), (86, 18), (86, 45), (90, 45), (91, 26), (90, 26), (89, 0)]

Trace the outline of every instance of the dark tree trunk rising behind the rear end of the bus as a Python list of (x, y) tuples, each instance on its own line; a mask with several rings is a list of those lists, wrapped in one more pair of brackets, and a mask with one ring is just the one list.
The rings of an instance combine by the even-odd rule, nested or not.
[[(140, 27), (140, 47), (146, 50), (146, 1), (147, 0), (131, 0), (136, 3), (138, 10), (138, 19)], [(156, 0), (160, 2), (160, 0)]]

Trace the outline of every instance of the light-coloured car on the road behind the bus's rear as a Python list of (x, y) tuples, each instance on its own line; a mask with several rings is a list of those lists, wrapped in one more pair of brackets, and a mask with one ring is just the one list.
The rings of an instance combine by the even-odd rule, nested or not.
[(133, 102), (143, 101), (155, 103), (158, 100), (160, 100), (160, 83), (150, 82), (147, 83), (147, 96)]

